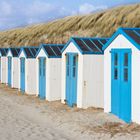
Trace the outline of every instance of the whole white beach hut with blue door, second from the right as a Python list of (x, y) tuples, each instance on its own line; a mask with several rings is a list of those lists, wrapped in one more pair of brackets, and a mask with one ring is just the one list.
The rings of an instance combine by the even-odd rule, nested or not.
[(106, 38), (72, 37), (62, 50), (61, 102), (103, 108), (103, 51)]

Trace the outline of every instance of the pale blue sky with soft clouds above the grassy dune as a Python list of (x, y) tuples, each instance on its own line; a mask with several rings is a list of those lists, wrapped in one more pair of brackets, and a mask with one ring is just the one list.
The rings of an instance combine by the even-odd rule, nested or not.
[(131, 3), (140, 3), (140, 0), (0, 0), (0, 30)]

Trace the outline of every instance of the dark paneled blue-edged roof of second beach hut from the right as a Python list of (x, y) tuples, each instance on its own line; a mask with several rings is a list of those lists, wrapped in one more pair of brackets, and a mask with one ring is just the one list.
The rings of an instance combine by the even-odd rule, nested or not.
[(67, 48), (70, 42), (73, 42), (82, 54), (103, 54), (102, 48), (108, 40), (108, 38), (72, 37), (62, 52)]

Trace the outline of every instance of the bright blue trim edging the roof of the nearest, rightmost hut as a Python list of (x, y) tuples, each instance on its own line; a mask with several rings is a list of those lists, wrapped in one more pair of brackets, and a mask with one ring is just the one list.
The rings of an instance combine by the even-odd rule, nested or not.
[(110, 40), (104, 45), (103, 50), (105, 50), (113, 41), (114, 39), (119, 35), (122, 34), (124, 37), (126, 37), (137, 49), (140, 50), (140, 45), (137, 44), (131, 37), (129, 37), (124, 31), (123, 29), (130, 29), (130, 30), (134, 30), (134, 29), (140, 29), (140, 28), (119, 28), (114, 34), (113, 36), (110, 38)]

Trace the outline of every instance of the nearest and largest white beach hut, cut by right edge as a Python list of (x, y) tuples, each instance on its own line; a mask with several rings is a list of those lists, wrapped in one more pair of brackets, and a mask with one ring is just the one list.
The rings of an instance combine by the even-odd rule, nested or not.
[(104, 111), (140, 123), (140, 28), (119, 28), (104, 49)]

